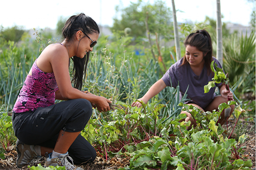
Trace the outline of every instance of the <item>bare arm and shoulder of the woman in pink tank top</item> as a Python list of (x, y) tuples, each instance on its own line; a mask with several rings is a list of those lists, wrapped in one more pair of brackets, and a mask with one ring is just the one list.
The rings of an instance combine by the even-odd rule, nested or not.
[(96, 104), (100, 112), (109, 111), (109, 103), (111, 101), (105, 97), (86, 94), (80, 90), (73, 88), (70, 79), (68, 68), (68, 54), (65, 47), (53, 46), (45, 50), (37, 59), (37, 65), (45, 72), (52, 72), (55, 74), (55, 79), (59, 90), (56, 92), (57, 99), (77, 99), (85, 98), (91, 103)]

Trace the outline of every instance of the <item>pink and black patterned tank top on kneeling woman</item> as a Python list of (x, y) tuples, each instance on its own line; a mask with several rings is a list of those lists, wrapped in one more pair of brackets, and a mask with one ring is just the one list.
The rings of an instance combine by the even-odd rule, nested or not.
[(13, 113), (33, 112), (38, 107), (55, 104), (55, 92), (58, 90), (55, 76), (53, 73), (41, 71), (36, 61), (32, 66), (32, 76), (27, 76), (19, 92)]

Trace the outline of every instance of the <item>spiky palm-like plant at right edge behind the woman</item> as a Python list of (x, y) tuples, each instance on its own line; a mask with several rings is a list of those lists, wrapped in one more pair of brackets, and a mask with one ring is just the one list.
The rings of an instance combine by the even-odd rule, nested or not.
[(229, 73), (231, 84), (235, 84), (243, 76), (243, 81), (248, 79), (248, 71), (252, 68), (254, 68), (255, 75), (255, 30), (250, 34), (246, 32), (244, 35), (241, 32), (225, 37), (223, 58), (223, 68)]

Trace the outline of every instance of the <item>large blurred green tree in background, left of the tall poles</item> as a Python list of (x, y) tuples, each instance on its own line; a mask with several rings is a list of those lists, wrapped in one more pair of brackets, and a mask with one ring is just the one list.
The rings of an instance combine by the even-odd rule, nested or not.
[(148, 17), (147, 23), (150, 33), (157, 33), (158, 37), (171, 37), (171, 9), (163, 1), (156, 1), (154, 4), (150, 4), (139, 0), (137, 3), (131, 2), (130, 6), (124, 9), (117, 6), (116, 12), (121, 12), (121, 19), (114, 18), (114, 24), (110, 28), (112, 32), (131, 28), (130, 36), (135, 38), (145, 37), (145, 21)]

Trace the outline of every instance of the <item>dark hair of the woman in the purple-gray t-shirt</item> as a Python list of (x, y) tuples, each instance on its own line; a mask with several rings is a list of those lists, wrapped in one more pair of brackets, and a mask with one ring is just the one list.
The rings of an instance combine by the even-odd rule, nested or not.
[[(196, 47), (199, 51), (203, 52), (205, 66), (209, 75), (212, 72), (211, 61), (213, 61), (213, 46), (211, 45), (211, 37), (209, 33), (204, 29), (197, 30), (195, 33), (190, 33), (184, 41), (184, 46), (186, 47), (188, 45)], [(184, 56), (181, 66), (187, 63), (188, 61), (186, 61)]]

